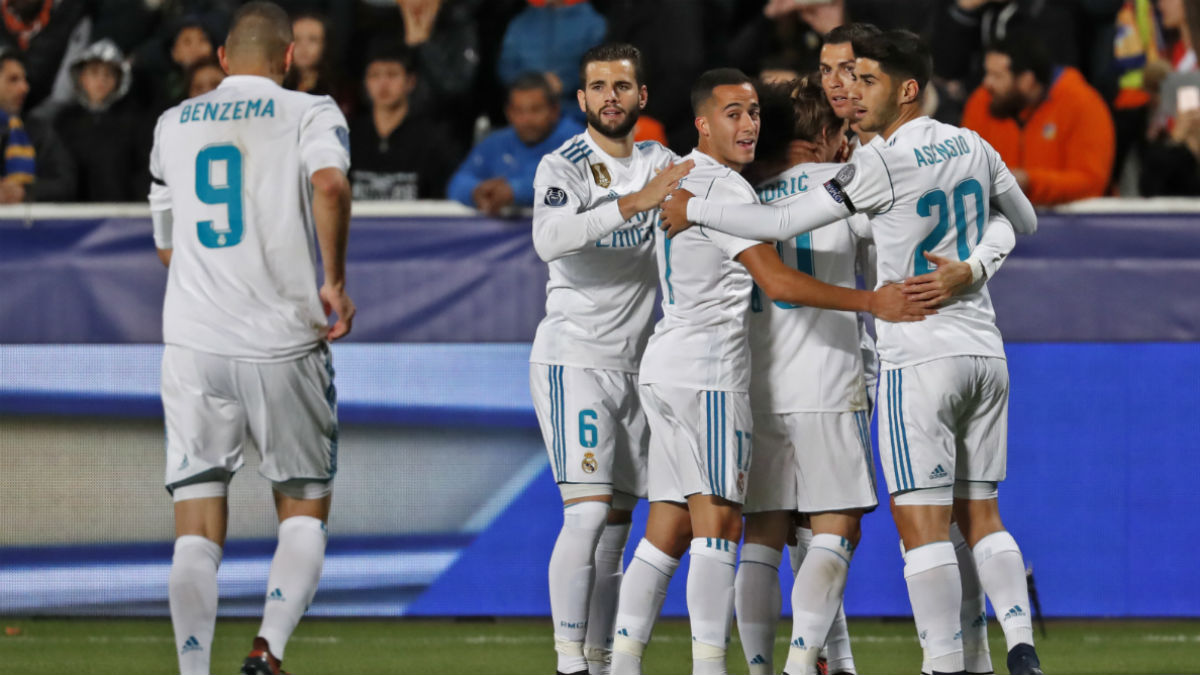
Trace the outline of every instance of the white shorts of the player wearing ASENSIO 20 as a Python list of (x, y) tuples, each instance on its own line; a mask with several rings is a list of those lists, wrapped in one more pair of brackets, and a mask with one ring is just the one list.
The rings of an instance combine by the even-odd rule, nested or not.
[(893, 495), (1004, 479), (1008, 363), (947, 357), (880, 374), (880, 460)]

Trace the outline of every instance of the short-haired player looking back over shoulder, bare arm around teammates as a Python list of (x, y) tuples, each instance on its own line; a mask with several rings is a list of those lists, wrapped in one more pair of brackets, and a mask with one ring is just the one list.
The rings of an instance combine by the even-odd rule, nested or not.
[[(754, 160), (758, 100), (740, 71), (718, 68), (692, 88), (700, 144), (683, 184), (714, 202), (752, 204), (739, 172)], [(742, 501), (754, 453), (746, 310), (751, 277), (772, 299), (874, 311), (893, 321), (929, 311), (893, 287), (856, 291), (821, 283), (786, 267), (773, 245), (715, 231), (655, 245), (664, 317), (640, 370), (650, 426), (646, 538), (625, 573), (617, 611), (612, 670), (641, 671), (641, 657), (666, 585), (691, 551), (688, 610), (692, 673), (725, 673), (733, 610)]]

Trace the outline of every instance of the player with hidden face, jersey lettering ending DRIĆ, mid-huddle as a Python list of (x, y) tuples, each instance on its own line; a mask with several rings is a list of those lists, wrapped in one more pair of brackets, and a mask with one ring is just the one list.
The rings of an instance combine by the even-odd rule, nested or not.
[[(790, 92), (790, 86), (760, 88), (764, 136), (752, 168), (768, 177), (758, 181), (764, 204), (786, 204), (841, 169), (828, 162), (842, 150), (842, 120), (816, 78), (800, 84), (794, 101)], [(782, 129), (786, 135), (768, 139), (766, 133), (772, 129)], [(791, 150), (792, 139), (816, 151), (797, 154)], [(989, 259), (1007, 255), (1014, 241), (1007, 220), (998, 213), (992, 220), (977, 247), (980, 255), (991, 251)], [(796, 261), (798, 269), (852, 288), (856, 268), (868, 257), (863, 244), (869, 244), (869, 237), (865, 215), (856, 215), (780, 241), (778, 249), (785, 261)], [(869, 270), (868, 277), (872, 275)], [(750, 402), (756, 449), (736, 597), (738, 632), (751, 675), (774, 671), (776, 568), (793, 510), (809, 515), (811, 548), (792, 587), (792, 641), (798, 647), (790, 652), (787, 671), (810, 671), (820, 649), (838, 639), (845, 644), (832, 655), (829, 671), (854, 671), (845, 619), (839, 633), (834, 628), (836, 619), (845, 616), (841, 589), (860, 536), (860, 519), (876, 506), (870, 406), (858, 330), (857, 315), (778, 301), (751, 303)]]

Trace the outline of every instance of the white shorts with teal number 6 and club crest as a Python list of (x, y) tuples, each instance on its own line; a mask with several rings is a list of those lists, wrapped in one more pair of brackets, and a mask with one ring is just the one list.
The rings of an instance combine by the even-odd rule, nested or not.
[(564, 500), (646, 496), (649, 430), (637, 374), (532, 363), (529, 393)]

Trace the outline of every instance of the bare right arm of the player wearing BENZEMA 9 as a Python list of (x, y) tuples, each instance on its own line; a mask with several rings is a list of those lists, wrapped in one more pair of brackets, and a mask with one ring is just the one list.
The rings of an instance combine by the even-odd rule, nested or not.
[(325, 313), (336, 313), (337, 323), (326, 338), (337, 340), (350, 333), (354, 301), (346, 294), (346, 244), (350, 232), (350, 183), (341, 169), (323, 168), (312, 174), (312, 214), (325, 279), (319, 295)]

